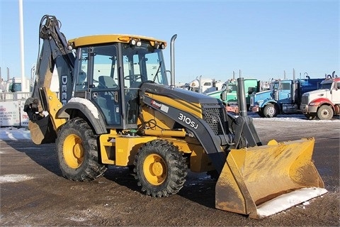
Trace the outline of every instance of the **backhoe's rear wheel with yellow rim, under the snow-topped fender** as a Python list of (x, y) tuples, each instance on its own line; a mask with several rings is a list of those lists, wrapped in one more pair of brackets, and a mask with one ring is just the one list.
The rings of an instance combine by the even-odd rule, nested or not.
[(98, 162), (96, 138), (89, 124), (81, 118), (73, 118), (61, 128), (56, 150), (63, 177), (91, 181), (103, 175), (107, 168)]

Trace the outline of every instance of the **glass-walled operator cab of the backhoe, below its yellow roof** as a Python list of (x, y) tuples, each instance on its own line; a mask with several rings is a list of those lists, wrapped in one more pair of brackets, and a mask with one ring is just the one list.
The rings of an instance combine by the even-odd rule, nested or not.
[(92, 101), (107, 128), (137, 128), (142, 83), (168, 84), (162, 49), (152, 44), (140, 39), (77, 49), (74, 96)]

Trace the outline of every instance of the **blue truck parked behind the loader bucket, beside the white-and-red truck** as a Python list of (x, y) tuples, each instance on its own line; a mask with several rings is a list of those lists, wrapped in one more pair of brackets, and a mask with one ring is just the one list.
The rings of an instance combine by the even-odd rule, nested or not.
[(273, 89), (257, 92), (250, 96), (249, 111), (263, 118), (273, 118), (278, 114), (300, 113), (301, 97), (305, 92), (319, 89), (322, 79), (283, 79), (273, 82)]

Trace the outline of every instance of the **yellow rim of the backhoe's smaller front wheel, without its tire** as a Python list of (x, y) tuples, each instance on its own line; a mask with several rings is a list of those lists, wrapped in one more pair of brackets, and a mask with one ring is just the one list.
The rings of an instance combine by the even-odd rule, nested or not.
[(151, 184), (162, 184), (167, 174), (164, 159), (157, 154), (148, 155), (143, 165), (143, 172), (145, 178)]

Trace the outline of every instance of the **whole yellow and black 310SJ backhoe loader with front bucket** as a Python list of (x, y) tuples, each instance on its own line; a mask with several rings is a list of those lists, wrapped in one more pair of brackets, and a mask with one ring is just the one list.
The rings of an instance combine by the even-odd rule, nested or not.
[[(312, 162), (314, 138), (263, 145), (246, 116), (218, 99), (174, 86), (164, 40), (92, 35), (66, 40), (55, 16), (40, 21), (42, 47), (27, 99), (34, 143), (55, 143), (62, 175), (91, 181), (108, 165), (131, 167), (145, 194), (176, 194), (187, 171), (215, 172), (216, 208), (262, 218), (327, 192)], [(214, 40), (209, 40), (214, 42)], [(53, 70), (59, 96), (50, 91)], [(287, 201), (289, 201), (287, 203)]]

